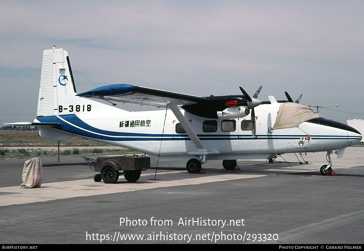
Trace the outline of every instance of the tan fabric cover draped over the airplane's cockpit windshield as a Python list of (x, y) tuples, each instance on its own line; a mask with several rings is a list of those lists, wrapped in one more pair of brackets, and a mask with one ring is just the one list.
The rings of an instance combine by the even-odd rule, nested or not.
[(273, 129), (298, 127), (302, 122), (317, 118), (324, 117), (307, 106), (292, 102), (282, 103)]

